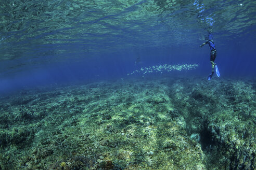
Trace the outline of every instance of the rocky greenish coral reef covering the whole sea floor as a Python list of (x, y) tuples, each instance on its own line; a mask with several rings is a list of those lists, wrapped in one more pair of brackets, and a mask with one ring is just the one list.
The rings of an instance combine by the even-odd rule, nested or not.
[(0, 167), (253, 169), (254, 86), (131, 79), (2, 98)]

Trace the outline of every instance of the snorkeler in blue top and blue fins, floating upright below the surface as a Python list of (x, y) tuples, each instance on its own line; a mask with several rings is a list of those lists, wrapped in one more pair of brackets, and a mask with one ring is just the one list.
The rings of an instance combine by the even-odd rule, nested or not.
[[(217, 55), (217, 50), (216, 50), (216, 47), (214, 45), (214, 42), (213, 42), (213, 37), (212, 37), (212, 34), (209, 33), (208, 35), (208, 40), (203, 43), (201, 46), (199, 47), (202, 47), (204, 45), (208, 44), (210, 49), (211, 49), (211, 57), (210, 57), (210, 62), (212, 64), (212, 73), (208, 76), (208, 80), (210, 80), (212, 78), (212, 75), (214, 73), (214, 66), (216, 66), (216, 64), (214, 63), (215, 59), (216, 59), (216, 55)], [(219, 77), (219, 76), (218, 76)]]

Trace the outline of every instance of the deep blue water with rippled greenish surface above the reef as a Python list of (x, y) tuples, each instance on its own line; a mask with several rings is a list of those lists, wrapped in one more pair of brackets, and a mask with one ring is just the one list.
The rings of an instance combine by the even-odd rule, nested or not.
[(207, 81), (210, 49), (199, 45), (209, 28), (220, 79), (255, 79), (255, 16), (255, 1), (4, 1), (0, 93), (142, 78), (127, 74), (160, 64), (199, 66), (151, 75), (201, 76)]

